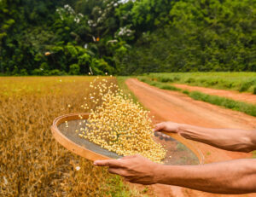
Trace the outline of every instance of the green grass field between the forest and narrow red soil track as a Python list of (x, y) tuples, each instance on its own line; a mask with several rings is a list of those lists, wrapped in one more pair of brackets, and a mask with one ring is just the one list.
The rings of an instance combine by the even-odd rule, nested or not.
[(256, 72), (161, 72), (146, 76), (161, 83), (189, 84), (256, 94)]

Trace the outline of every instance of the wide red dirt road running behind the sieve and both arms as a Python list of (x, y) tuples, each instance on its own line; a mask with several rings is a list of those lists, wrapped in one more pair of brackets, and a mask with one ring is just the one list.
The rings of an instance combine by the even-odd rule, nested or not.
[[(170, 120), (177, 123), (198, 125), (211, 128), (256, 128), (256, 118), (245, 113), (224, 109), (212, 104), (195, 101), (181, 93), (160, 90), (148, 84), (130, 78), (125, 82), (129, 89), (137, 96), (138, 100), (147, 107), (155, 116), (155, 123)], [(230, 159), (250, 158), (251, 154), (224, 151), (213, 148), (200, 142), (193, 142), (195, 147), (201, 149), (205, 156), (205, 163), (224, 161)], [(223, 194), (209, 194), (188, 188), (180, 188), (166, 185), (152, 186), (157, 196), (234, 196)], [(256, 194), (245, 194), (236, 196), (256, 196)]]

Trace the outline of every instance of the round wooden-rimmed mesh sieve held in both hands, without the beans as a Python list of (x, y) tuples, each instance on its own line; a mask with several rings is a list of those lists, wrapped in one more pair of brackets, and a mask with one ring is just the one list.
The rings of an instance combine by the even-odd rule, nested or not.
[[(79, 154), (85, 159), (119, 159), (123, 156), (108, 151), (101, 146), (79, 136), (75, 130), (84, 128), (90, 113), (72, 113), (56, 118), (51, 126), (55, 140), (74, 154)], [(81, 119), (82, 117), (82, 119)], [(68, 125), (68, 126), (67, 126)], [(199, 165), (204, 157), (201, 151), (193, 146), (193, 143), (177, 134), (166, 133), (171, 136), (164, 139), (154, 136), (154, 141), (160, 142), (166, 149), (165, 165)]]

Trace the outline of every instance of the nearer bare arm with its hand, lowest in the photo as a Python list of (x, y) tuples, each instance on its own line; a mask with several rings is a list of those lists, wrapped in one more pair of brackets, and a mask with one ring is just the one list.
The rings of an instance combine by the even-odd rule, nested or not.
[(160, 165), (140, 155), (95, 161), (131, 183), (162, 183), (218, 194), (256, 192), (256, 159), (236, 159), (207, 165)]

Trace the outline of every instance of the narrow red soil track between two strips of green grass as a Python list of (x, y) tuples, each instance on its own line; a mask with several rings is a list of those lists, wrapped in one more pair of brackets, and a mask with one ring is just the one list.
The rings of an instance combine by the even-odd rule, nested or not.
[(250, 93), (240, 93), (234, 90), (216, 90), (211, 88), (190, 86), (187, 84), (172, 84), (172, 85), (183, 90), (200, 91), (208, 95), (223, 96), (226, 98), (233, 99), (235, 101), (244, 101), (247, 103), (256, 104), (256, 95), (253, 95)]

